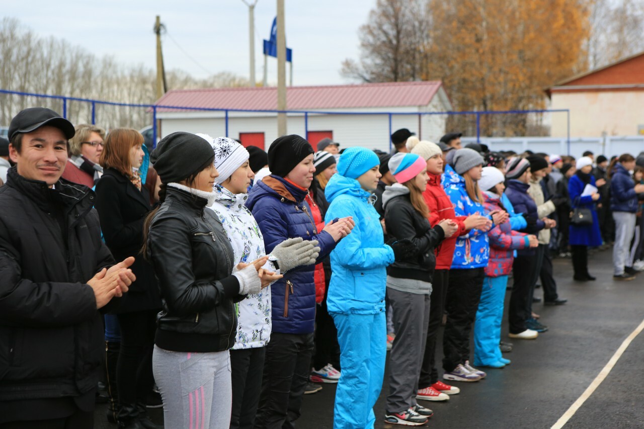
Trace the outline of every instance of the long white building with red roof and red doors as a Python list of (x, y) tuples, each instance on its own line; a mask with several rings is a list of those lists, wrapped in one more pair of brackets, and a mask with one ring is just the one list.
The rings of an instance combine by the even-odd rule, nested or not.
[[(172, 90), (156, 106), (160, 137), (175, 131), (227, 135), (263, 149), (279, 137), (274, 87)], [(306, 137), (314, 147), (329, 137), (341, 149), (388, 151), (390, 134), (399, 128), (438, 141), (447, 115), (421, 113), (451, 108), (440, 81), (292, 86), (287, 88), (287, 133)]]

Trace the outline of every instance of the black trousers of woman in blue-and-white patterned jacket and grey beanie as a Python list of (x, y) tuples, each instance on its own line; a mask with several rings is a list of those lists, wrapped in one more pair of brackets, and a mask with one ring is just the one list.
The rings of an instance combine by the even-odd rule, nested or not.
[(483, 268), (450, 270), (443, 334), (443, 368), (447, 372), (469, 360), (469, 334), (477, 316), (484, 278)]

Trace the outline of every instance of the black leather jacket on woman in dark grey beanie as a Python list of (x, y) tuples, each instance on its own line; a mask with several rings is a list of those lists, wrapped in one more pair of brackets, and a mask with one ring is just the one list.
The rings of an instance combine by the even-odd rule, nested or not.
[(239, 281), (231, 275), (232, 247), (207, 200), (167, 187), (147, 236), (163, 299), (155, 343), (177, 352), (220, 352), (234, 345), (234, 302)]

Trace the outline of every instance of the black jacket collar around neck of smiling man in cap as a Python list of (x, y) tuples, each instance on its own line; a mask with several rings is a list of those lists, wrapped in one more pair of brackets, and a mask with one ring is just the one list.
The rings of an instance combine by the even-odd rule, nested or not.
[(88, 195), (91, 201), (88, 205), (90, 208), (93, 205), (94, 192), (90, 188), (61, 178), (51, 189), (46, 182), (19, 175), (15, 166), (8, 169), (6, 184), (32, 200), (43, 211), (64, 209), (68, 213)]

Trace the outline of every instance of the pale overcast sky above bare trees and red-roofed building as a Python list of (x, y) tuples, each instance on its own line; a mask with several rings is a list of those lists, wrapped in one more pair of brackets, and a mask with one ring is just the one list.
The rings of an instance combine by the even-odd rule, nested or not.
[[(261, 39), (269, 38), (276, 5), (276, 0), (259, 0), (255, 7), (257, 81), (263, 76)], [(349, 83), (339, 74), (341, 62), (357, 57), (358, 28), (375, 0), (285, 0), (285, 5), (294, 85)], [(162, 39), (166, 70), (180, 68), (194, 77), (218, 72), (249, 76), (248, 8), (242, 0), (3, 1), (2, 12), (39, 35), (150, 68), (156, 64), (152, 29), (160, 15), (167, 28)], [(269, 57), (270, 81), (277, 81), (277, 64)]]

